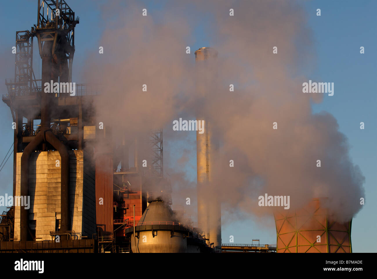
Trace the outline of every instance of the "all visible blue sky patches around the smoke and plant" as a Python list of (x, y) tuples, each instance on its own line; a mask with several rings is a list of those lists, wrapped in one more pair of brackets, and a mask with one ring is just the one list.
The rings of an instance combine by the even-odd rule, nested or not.
[[(98, 41), (103, 31), (100, 17), (100, 5), (104, 1), (67, 1), (80, 17), (80, 24), (75, 31), (76, 53), (73, 75), (79, 74), (86, 59), (86, 54), (93, 48), (98, 49)], [(88, 5), (88, 2), (91, 4)], [(164, 1), (140, 1), (145, 3), (149, 12), (158, 11)], [(377, 242), (377, 100), (375, 80), (377, 76), (377, 1), (301, 1), (309, 27), (313, 30), (316, 65), (313, 67), (312, 80), (334, 82), (334, 96), (325, 96), (320, 104), (313, 104), (313, 112), (325, 110), (334, 115), (340, 132), (344, 133), (351, 146), (350, 155), (354, 164), (359, 165), (366, 178), (365, 205), (352, 221), (352, 248), (354, 252), (375, 252)], [(22, 8), (20, 8), (22, 6)], [(321, 16), (316, 16), (316, 9), (321, 9)], [(16, 1), (4, 1), (0, 9), (0, 92), (5, 94), (5, 78), (14, 77), (14, 54), (11, 54), (15, 41), (15, 31), (30, 29), (36, 23), (37, 1), (25, 0), (22, 5)], [(205, 23), (208, 19), (196, 22)], [(195, 42), (192, 50), (210, 46), (211, 41), (200, 28), (195, 29)], [(35, 47), (37, 43), (34, 43)], [(360, 47), (365, 54), (360, 54)], [(193, 51), (192, 51), (193, 52)], [(37, 56), (34, 50), (34, 72), (38, 76)], [(40, 68), (39, 68), (40, 70)], [(5, 156), (13, 141), (11, 113), (6, 104), (0, 102), (0, 159)], [(365, 129), (360, 130), (360, 122)], [(169, 138), (164, 138), (165, 148)], [(179, 148), (170, 146), (172, 149)], [(173, 167), (174, 160), (164, 162), (165, 167)], [(190, 162), (195, 166), (195, 161)], [(193, 179), (195, 181), (196, 178)], [(12, 157), (0, 172), (0, 195), (12, 192)], [(0, 211), (5, 207), (0, 207)], [(0, 213), (1, 213), (0, 212)], [(260, 220), (259, 220), (260, 221)], [(222, 226), (222, 242), (228, 243), (229, 236), (234, 236), (235, 243), (251, 243), (251, 239), (260, 239), (263, 244), (276, 244), (276, 230), (273, 219), (265, 220), (263, 225), (253, 218), (235, 220)]]

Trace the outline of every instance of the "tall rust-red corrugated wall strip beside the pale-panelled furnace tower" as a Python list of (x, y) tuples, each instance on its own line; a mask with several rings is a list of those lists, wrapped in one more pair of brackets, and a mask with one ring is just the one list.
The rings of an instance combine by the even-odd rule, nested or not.
[[(97, 233), (113, 233), (113, 155), (95, 154), (95, 196)], [(100, 204), (103, 198), (103, 204)]]

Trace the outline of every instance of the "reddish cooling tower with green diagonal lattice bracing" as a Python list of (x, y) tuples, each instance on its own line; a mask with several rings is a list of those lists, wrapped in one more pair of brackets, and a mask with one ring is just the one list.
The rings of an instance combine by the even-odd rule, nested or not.
[[(351, 253), (351, 222), (328, 219), (320, 201), (288, 214), (275, 212), (277, 253)], [(317, 242), (319, 239), (320, 242)]]

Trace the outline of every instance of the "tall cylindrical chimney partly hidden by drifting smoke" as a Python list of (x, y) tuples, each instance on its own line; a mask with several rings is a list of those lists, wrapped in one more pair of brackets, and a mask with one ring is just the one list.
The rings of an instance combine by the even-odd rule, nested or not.
[[(212, 48), (202, 47), (195, 51), (196, 67), (204, 68), (203, 65), (207, 61), (216, 59), (217, 51)], [(209, 68), (209, 70), (213, 70)], [(200, 77), (199, 77), (200, 78)], [(198, 87), (197, 87), (198, 90)], [(203, 88), (201, 88), (203, 90)], [(211, 153), (213, 153), (215, 145), (211, 140), (210, 125), (204, 121), (202, 116), (197, 119), (202, 121), (204, 125), (204, 133), (196, 131), (196, 168), (198, 183), (198, 223), (201, 223), (205, 236), (209, 238), (209, 243), (214, 243), (217, 251), (221, 252), (221, 206), (216, 199), (216, 195), (212, 194), (208, 189), (211, 181)]]

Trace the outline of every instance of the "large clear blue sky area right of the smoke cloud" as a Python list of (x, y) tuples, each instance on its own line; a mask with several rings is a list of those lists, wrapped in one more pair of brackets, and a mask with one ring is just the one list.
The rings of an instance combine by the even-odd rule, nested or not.
[[(352, 250), (375, 252), (377, 2), (313, 1), (306, 7), (318, 57), (314, 74), (337, 86), (337, 94), (325, 96), (321, 104), (313, 105), (313, 111), (325, 110), (334, 115), (340, 132), (348, 137), (353, 163), (359, 165), (366, 178), (366, 202), (352, 220)], [(314, 13), (317, 8), (321, 8), (321, 17)], [(360, 47), (369, 51), (360, 54)], [(360, 122), (365, 123), (364, 130), (360, 129)]]

